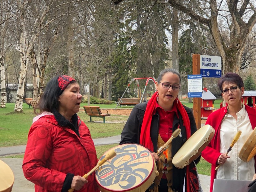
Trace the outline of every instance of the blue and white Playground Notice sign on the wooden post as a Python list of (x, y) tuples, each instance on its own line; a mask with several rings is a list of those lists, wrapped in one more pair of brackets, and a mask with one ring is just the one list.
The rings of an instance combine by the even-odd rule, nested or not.
[(202, 97), (202, 75), (188, 75), (188, 97)]

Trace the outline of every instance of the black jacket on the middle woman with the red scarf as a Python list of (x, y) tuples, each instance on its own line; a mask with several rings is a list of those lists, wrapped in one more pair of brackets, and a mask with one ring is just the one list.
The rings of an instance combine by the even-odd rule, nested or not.
[[(132, 109), (132, 112), (124, 125), (124, 129), (121, 133), (121, 144), (125, 143), (140, 143), (140, 131), (141, 131), (141, 125), (144, 118), (144, 114), (146, 111), (148, 102), (140, 103), (135, 105), (135, 107)], [(192, 110), (186, 106), (183, 105), (185, 110), (188, 113), (188, 117), (190, 120), (190, 129), (191, 129), (191, 135), (196, 132), (196, 122), (192, 113)], [(180, 124), (181, 129), (181, 137), (176, 137), (172, 140), (172, 157), (177, 153), (177, 151), (180, 149), (180, 147), (186, 142), (187, 140), (187, 134), (186, 129), (183, 125), (183, 119), (178, 111), (179, 118), (174, 116), (173, 125), (172, 125), (172, 131), (175, 131), (178, 128), (178, 125)], [(154, 152), (157, 152), (157, 139), (158, 139), (158, 132), (159, 132), (159, 115), (156, 113), (152, 116), (151, 121), (151, 127), (150, 127), (150, 137), (153, 142), (154, 146)], [(198, 159), (196, 159), (196, 164), (200, 161), (200, 156)], [(183, 191), (183, 183), (184, 183), (184, 177), (186, 173), (186, 167), (183, 169), (178, 169), (175, 166), (173, 166), (173, 189), (178, 189), (179, 191)]]

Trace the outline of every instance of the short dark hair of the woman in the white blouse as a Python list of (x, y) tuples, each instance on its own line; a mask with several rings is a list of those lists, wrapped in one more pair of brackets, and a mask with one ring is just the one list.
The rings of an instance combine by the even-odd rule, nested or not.
[(238, 87), (244, 87), (243, 79), (236, 73), (228, 72), (225, 75), (221, 76), (218, 81), (218, 87), (222, 92), (222, 85), (223, 83), (234, 83), (237, 84)]

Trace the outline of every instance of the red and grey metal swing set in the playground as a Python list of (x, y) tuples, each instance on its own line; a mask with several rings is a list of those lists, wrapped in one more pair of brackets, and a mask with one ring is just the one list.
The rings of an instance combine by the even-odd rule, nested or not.
[[(139, 85), (139, 80), (140, 80), (140, 79), (147, 79), (146, 85), (145, 85), (145, 88), (144, 88), (142, 94), (141, 94), (140, 85)], [(146, 87), (147, 87), (148, 82), (149, 82), (150, 80), (153, 81), (153, 82), (156, 84), (155, 79), (152, 78), (152, 77), (132, 78), (131, 81), (130, 81), (130, 83), (127, 85), (127, 87), (126, 87), (126, 89), (125, 89), (125, 91), (124, 91), (122, 97), (121, 97), (120, 99), (118, 99), (118, 103), (117, 103), (117, 105), (116, 105), (116, 108), (117, 108), (117, 106), (118, 106), (119, 104), (120, 104), (120, 106), (121, 106), (122, 104), (124, 104), (124, 105), (125, 105), (125, 104), (127, 104), (127, 105), (136, 105), (136, 104), (138, 104), (138, 103), (141, 103), (142, 98), (143, 98), (143, 95), (144, 95), (144, 92), (146, 91)], [(135, 81), (135, 82), (137, 83), (137, 86), (138, 86), (138, 99), (134, 99), (134, 98), (123, 98), (125, 92), (127, 91), (127, 89), (129, 88), (129, 86), (132, 84), (133, 81)], [(122, 100), (122, 99), (123, 99), (123, 100)], [(116, 110), (116, 108), (115, 108), (115, 110)]]

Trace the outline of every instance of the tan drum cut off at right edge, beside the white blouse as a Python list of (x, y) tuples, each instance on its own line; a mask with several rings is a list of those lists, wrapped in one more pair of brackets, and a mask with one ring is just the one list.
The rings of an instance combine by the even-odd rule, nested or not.
[(239, 152), (239, 158), (244, 162), (249, 162), (256, 155), (256, 128), (245, 141)]

